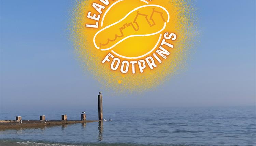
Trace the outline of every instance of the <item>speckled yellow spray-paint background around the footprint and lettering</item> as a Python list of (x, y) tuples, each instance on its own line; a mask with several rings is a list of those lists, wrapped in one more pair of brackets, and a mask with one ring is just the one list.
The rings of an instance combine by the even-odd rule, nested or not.
[[(96, 13), (96, 11), (93, 11), (93, 7), (91, 6), (93, 2), (100, 3), (95, 0), (77, 1), (77, 4), (73, 8), (71, 14), (70, 38), (74, 43), (75, 52), (85, 72), (89, 71), (93, 77), (102, 84), (104, 89), (114, 90), (116, 93), (152, 90), (159, 84), (170, 80), (173, 75), (177, 74), (180, 69), (185, 67), (186, 60), (191, 52), (190, 50), (196, 42), (197, 36), (195, 27), (195, 11), (190, 2), (185, 2), (183, 0), (149, 1), (150, 4), (165, 6), (168, 10), (170, 13), (170, 24), (167, 25), (165, 30), (168, 32), (171, 31), (170, 33), (177, 34), (177, 39), (175, 40), (174, 48), (170, 50), (171, 54), (167, 59), (162, 60), (162, 63), (157, 64), (157, 67), (153, 70), (146, 68), (144, 73), (138, 72), (136, 74), (132, 74), (131, 72), (123, 74), (120, 71), (113, 71), (110, 69), (111, 62), (106, 64), (101, 63), (108, 52), (99, 51), (99, 49), (95, 48), (92, 42), (93, 36), (98, 30), (87, 29), (85, 27), (85, 24), (95, 23), (95, 21), (87, 18), (89, 10)], [(110, 1), (110, 4), (106, 6), (104, 10), (114, 2), (115, 1)], [(140, 6), (141, 1), (132, 0), (130, 3), (128, 2), (123, 4), (125, 4), (125, 6), (122, 6), (122, 3), (120, 3), (120, 5), (116, 5), (111, 8), (112, 11), (109, 11), (108, 15), (105, 17), (104, 25), (108, 25), (115, 22), (115, 20), (119, 20), (122, 18), (123, 13), (125, 14), (126, 11), (128, 12), (134, 7)], [(104, 15), (104, 10), (102, 10), (103, 13), (101, 16)], [(116, 15), (114, 15), (115, 13)], [(99, 25), (100, 23), (101, 19), (99, 20)], [(133, 41), (135, 41), (134, 44), (127, 45), (123, 43), (122, 47), (124, 48), (128, 46), (136, 52), (137, 45), (139, 47), (143, 47), (143, 44), (139, 42), (143, 42), (144, 44), (146, 42), (147, 45), (151, 45), (150, 43), (152, 42), (151, 40), (143, 40), (143, 38), (133, 39)], [(147, 39), (155, 40), (155, 37), (148, 37)]]

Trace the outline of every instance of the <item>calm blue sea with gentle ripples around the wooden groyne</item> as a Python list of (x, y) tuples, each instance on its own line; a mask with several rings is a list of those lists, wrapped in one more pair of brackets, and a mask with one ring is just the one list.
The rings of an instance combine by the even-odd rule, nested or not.
[[(83, 110), (34, 111), (18, 114), (25, 119), (79, 120)], [(256, 109), (251, 107), (190, 107), (103, 109), (112, 121), (35, 129), (0, 131), (1, 146), (256, 146)], [(1, 119), (17, 113), (1, 112)], [(97, 109), (87, 111), (97, 120)]]

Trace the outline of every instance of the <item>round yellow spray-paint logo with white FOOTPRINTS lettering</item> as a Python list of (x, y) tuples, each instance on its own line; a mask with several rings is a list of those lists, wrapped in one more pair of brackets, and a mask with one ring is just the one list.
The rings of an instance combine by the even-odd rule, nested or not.
[(105, 87), (151, 89), (182, 66), (191, 47), (191, 12), (181, 0), (80, 1), (71, 38), (85, 69)]

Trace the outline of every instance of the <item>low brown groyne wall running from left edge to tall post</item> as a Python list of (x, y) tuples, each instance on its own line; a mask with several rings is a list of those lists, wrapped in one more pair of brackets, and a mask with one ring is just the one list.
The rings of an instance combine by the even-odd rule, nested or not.
[(7, 129), (19, 129), (19, 128), (39, 128), (45, 126), (57, 126), (75, 123), (89, 123), (89, 122), (99, 122), (99, 120), (0, 120), (0, 130)]

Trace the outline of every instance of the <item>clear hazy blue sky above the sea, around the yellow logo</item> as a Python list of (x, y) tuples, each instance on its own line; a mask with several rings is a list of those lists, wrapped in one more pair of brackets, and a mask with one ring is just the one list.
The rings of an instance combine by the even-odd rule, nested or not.
[[(75, 1), (0, 2), (0, 106), (247, 106), (256, 104), (255, 0), (195, 1), (200, 43), (186, 70), (157, 90), (112, 95), (85, 74), (68, 39)], [(83, 101), (83, 102), (81, 102)]]

